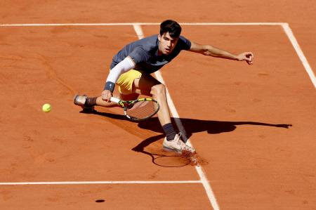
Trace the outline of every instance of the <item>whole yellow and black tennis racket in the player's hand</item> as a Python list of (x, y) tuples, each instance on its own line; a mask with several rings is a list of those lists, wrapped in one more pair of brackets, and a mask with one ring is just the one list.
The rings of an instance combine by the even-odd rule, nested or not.
[(131, 121), (143, 121), (154, 116), (159, 110), (159, 104), (152, 98), (138, 98), (137, 100), (120, 100), (111, 97), (112, 102), (124, 109), (124, 114)]

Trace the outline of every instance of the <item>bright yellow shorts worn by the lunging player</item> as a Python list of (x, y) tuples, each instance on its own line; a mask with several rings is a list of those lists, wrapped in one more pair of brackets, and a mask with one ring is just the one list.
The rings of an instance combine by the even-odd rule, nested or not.
[(138, 79), (142, 76), (142, 72), (138, 70), (129, 70), (119, 76), (117, 79), (117, 85), (119, 86), (119, 93), (123, 95), (129, 95), (133, 93), (134, 79)]

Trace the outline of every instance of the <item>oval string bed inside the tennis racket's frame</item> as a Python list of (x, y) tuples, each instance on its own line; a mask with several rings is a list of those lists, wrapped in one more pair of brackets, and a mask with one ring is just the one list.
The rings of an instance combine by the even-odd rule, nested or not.
[(146, 119), (155, 114), (158, 109), (159, 105), (154, 101), (138, 101), (134, 103), (133, 107), (126, 110), (126, 114), (136, 119)]

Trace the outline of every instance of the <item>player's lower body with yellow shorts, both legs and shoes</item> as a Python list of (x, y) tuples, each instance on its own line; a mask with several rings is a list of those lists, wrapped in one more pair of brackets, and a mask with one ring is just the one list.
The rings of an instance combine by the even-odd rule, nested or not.
[[(169, 113), (169, 107), (166, 99), (166, 87), (161, 84), (157, 79), (152, 77), (150, 74), (142, 74), (137, 70), (130, 70), (124, 74), (121, 74), (117, 81), (117, 86), (119, 87), (119, 98), (122, 100), (134, 100), (138, 98), (139, 94), (145, 96), (152, 96), (159, 103), (159, 111), (157, 112), (159, 122), (162, 125), (162, 129), (166, 134), (164, 138), (163, 147), (165, 150), (172, 152), (182, 152), (183, 150), (188, 150), (190, 152), (195, 152), (194, 149), (188, 147), (180, 140), (180, 135), (176, 133), (171, 124), (171, 117)], [(84, 96), (80, 96), (83, 98)], [(86, 97), (86, 96), (85, 96)], [(74, 103), (77, 103), (77, 96), (74, 99)], [(116, 103), (107, 103), (102, 98), (83, 98), (81, 100), (81, 105), (84, 107), (93, 107), (94, 105), (101, 105), (103, 107), (113, 107)]]

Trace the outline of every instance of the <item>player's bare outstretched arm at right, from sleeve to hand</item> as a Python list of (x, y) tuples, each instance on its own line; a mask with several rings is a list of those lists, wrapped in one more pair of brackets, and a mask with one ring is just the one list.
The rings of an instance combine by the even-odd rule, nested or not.
[(245, 60), (246, 63), (248, 63), (249, 65), (253, 64), (254, 59), (254, 53), (251, 52), (244, 52), (240, 53), (239, 55), (234, 55), (232, 53), (229, 53), (228, 51), (223, 51), (211, 45), (201, 45), (194, 42), (191, 42), (191, 48), (189, 51), (200, 53), (202, 55), (209, 55), (216, 58), (226, 58), (239, 61)]

